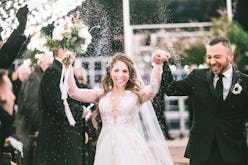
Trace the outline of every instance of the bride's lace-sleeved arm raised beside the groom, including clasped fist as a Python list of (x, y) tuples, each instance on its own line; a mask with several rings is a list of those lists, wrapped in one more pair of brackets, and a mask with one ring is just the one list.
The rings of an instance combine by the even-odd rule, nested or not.
[(145, 86), (141, 90), (142, 102), (151, 100), (156, 96), (160, 88), (161, 75), (163, 72), (163, 63), (168, 61), (170, 54), (164, 50), (156, 50), (152, 54), (152, 73), (149, 85)]

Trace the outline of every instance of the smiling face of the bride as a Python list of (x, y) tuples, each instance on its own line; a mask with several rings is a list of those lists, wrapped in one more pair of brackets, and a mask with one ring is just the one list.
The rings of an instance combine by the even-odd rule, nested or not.
[(122, 61), (117, 61), (110, 72), (115, 87), (125, 87), (129, 80), (129, 70)]

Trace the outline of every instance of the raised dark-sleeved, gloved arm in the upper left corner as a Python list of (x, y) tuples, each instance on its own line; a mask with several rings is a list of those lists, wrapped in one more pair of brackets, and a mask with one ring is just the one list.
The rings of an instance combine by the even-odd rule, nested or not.
[(17, 11), (16, 17), (19, 25), (0, 49), (0, 68), (7, 69), (12, 64), (26, 41), (26, 36), (23, 33), (26, 28), (28, 12), (27, 5)]

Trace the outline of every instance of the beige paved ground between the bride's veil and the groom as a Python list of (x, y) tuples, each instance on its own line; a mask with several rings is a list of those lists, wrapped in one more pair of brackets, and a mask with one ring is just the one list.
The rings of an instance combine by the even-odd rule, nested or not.
[(171, 152), (174, 165), (189, 165), (189, 159), (184, 157), (185, 147), (188, 138), (168, 140), (169, 150)]

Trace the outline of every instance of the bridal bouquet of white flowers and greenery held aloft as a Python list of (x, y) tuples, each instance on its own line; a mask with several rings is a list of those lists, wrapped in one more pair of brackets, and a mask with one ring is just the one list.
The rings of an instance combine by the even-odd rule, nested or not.
[(60, 18), (54, 23), (52, 37), (48, 38), (46, 46), (50, 50), (62, 48), (68, 54), (64, 63), (70, 63), (72, 53), (84, 53), (91, 43), (89, 28), (78, 17)]

